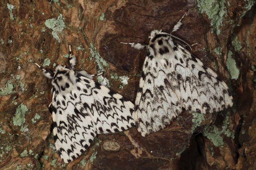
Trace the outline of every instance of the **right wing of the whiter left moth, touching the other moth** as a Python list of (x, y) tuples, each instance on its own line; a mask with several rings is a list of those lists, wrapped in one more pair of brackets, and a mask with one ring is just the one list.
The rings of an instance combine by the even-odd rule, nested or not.
[(80, 78), (82, 81), (77, 84), (83, 91), (81, 105), (91, 115), (96, 133), (121, 132), (134, 126), (131, 101), (89, 78)]

